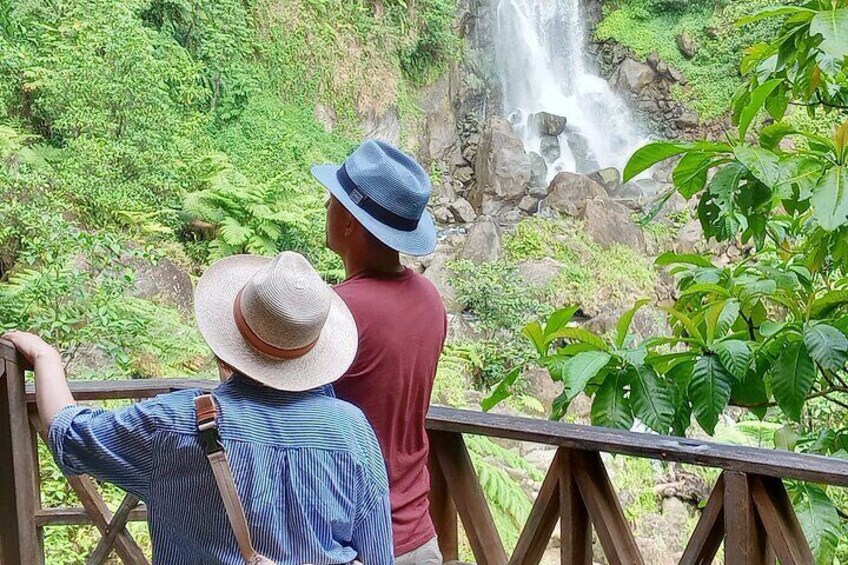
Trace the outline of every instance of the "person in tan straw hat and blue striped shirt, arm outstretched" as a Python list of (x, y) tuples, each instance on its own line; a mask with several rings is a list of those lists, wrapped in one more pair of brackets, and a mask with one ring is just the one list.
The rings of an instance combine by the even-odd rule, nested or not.
[(154, 563), (393, 563), (377, 439), (327, 386), (356, 354), (344, 302), (296, 253), (240, 255), (203, 274), (195, 311), (234, 376), (212, 396), (186, 390), (115, 411), (77, 405), (39, 337), (3, 336), (35, 366), (63, 471), (147, 503)]

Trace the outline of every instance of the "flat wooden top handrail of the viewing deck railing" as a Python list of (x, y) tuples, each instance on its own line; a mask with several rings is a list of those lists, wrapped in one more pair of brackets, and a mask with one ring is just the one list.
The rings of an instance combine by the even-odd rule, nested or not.
[[(78, 400), (142, 399), (187, 388), (210, 390), (217, 384), (213, 380), (198, 379), (70, 382), (71, 390)], [(30, 385), (27, 387), (27, 402), (34, 401), (35, 395)], [(806, 453), (726, 445), (444, 406), (430, 408), (427, 428), (848, 486), (848, 461)]]

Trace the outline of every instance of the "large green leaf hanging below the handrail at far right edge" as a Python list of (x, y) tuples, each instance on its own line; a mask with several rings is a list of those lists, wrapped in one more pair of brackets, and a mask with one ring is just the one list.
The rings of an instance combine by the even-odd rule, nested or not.
[(795, 513), (816, 563), (831, 565), (842, 535), (836, 507), (827, 493), (816, 485), (798, 483), (793, 491)]

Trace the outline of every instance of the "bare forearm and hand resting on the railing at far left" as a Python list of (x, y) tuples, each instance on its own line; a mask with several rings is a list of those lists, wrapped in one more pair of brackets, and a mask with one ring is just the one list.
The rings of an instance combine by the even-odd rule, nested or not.
[(76, 404), (65, 380), (65, 368), (62, 366), (59, 352), (31, 333), (12, 331), (4, 334), (2, 338), (11, 341), (35, 368), (38, 414), (44, 429), (49, 430), (53, 418), (62, 408)]

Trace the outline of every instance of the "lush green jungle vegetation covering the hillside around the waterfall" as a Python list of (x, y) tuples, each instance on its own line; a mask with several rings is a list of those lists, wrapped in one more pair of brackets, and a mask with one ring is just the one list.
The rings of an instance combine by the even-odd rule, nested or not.
[[(361, 116), (391, 108), (409, 145), (416, 89), (462, 57), (457, 15), (455, 0), (0, 0), (0, 330), (44, 335), (76, 378), (211, 376), (190, 312), (140, 295), (140, 273), (295, 249), (338, 280), (309, 166), (343, 159)], [(726, 439), (730, 408), (760, 445), (848, 457), (848, 4), (617, 0), (603, 16), (599, 40), (657, 51), (689, 79), (680, 100), (732, 119), (717, 141), (648, 145), (625, 175), (679, 158), (675, 190), (696, 201), (705, 237), (745, 254), (722, 266), (666, 254), (655, 268), (569, 219), (525, 220), (501, 260), (452, 265), (487, 337), (448, 347), (439, 400), (467, 404), (454, 377), (470, 371), (486, 408), (541, 416), (521, 384), (537, 366), (563, 391), (545, 416), (582, 395), (597, 425)], [(698, 42), (692, 58), (681, 32)], [(646, 218), (664, 236), (657, 226)], [(564, 273), (531, 296), (515, 265), (545, 257)], [(578, 306), (649, 295), (662, 268), (676, 277), (673, 335), (634, 339), (645, 301), (613, 332), (570, 324)], [(514, 544), (530, 502), (512, 477), (538, 471), (488, 440), (469, 447)], [(77, 504), (41, 456), (45, 505)], [(617, 479), (633, 520), (656, 510), (652, 473), (627, 463)], [(789, 488), (817, 560), (848, 562), (848, 495)], [(146, 543), (143, 525), (132, 532)], [(98, 538), (46, 536), (49, 563), (81, 562)]]

